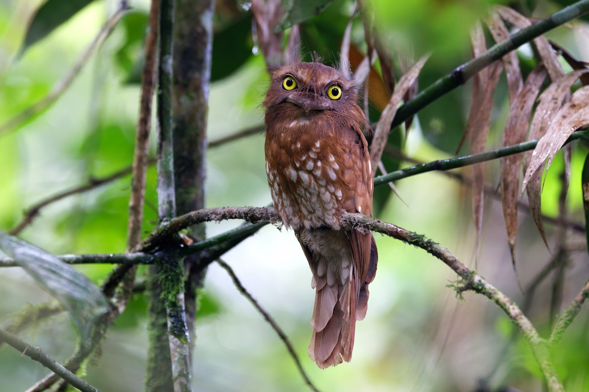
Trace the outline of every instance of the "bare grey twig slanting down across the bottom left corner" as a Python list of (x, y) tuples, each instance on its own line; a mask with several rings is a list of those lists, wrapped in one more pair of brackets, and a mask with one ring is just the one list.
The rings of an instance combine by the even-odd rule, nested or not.
[(33, 347), (24, 341), (18, 339), (11, 333), (6, 332), (4, 329), (0, 329), (0, 342), (6, 342), (22, 354), (30, 357), (32, 360), (38, 361), (49, 370), (53, 371), (59, 377), (70, 383), (72, 386), (78, 388), (82, 392), (99, 392), (96, 388), (92, 387), (86, 381), (76, 376), (71, 371), (67, 370), (64, 366), (59, 364), (57, 361), (49, 357), (39, 347)]

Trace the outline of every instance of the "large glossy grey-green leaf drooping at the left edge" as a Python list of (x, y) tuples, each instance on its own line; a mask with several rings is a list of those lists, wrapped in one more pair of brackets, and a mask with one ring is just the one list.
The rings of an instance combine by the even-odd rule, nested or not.
[(108, 310), (100, 289), (51, 253), (4, 232), (0, 232), (0, 249), (62, 304), (86, 343), (95, 322)]

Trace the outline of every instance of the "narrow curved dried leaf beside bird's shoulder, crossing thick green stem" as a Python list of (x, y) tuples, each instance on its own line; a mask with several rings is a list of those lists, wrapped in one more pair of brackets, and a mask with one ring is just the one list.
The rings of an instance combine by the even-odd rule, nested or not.
[[(395, 92), (393, 92), (389, 103), (382, 111), (380, 119), (376, 124), (376, 130), (372, 138), (372, 144), (370, 145), (370, 163), (372, 164), (372, 167), (378, 167), (378, 162), (380, 161), (382, 152), (385, 150), (386, 141), (389, 138), (389, 132), (391, 132), (391, 124), (393, 122), (393, 118), (395, 118), (399, 103), (401, 103), (403, 96), (409, 87), (413, 84), (413, 82), (415, 82), (415, 79), (417, 79), (419, 72), (421, 72), (423, 65), (426, 61), (428, 61), (428, 58), (429, 55), (423, 56), (421, 59), (419, 59), (418, 62), (415, 63), (415, 65), (412, 66), (409, 72), (401, 76), (399, 83), (397, 83)], [(374, 170), (374, 173), (376, 173), (376, 170)]]

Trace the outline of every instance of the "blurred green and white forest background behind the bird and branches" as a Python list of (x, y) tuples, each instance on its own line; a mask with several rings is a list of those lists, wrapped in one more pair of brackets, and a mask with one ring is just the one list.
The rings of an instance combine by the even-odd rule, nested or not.
[[(68, 11), (59, 11), (58, 3), (67, 5)], [(29, 33), (28, 21), (39, 2), (0, 3), (0, 124), (46, 96), (94, 38), (112, 4), (101, 1), (84, 6), (89, 3), (48, 0), (41, 6), (45, 11), (35, 14), (37, 19), (31, 25), (43, 27), (38, 30), (31, 27)], [(469, 29), (485, 15), (489, 6), (498, 3), (501, 2), (375, 0), (372, 5), (379, 36), (391, 48), (397, 77), (401, 75), (399, 56), (405, 55), (408, 48), (415, 58), (432, 52), (419, 76), (421, 90), (469, 59)], [(525, 3), (525, 6), (522, 2), (514, 6), (524, 8), (522, 12), (542, 11), (532, 16), (547, 15), (544, 10), (562, 5), (562, 2), (545, 0)], [(300, 33), (305, 59), (310, 59), (310, 53), (316, 51), (327, 64), (336, 63), (352, 2), (313, 3), (322, 7), (319, 15), (315, 15), (315, 8), (309, 7), (311, 2), (288, 4), (293, 12), (287, 14), (285, 21), (304, 21)], [(71, 88), (42, 115), (0, 135), (0, 230), (14, 227), (22, 212), (39, 200), (131, 164), (148, 2), (133, 1), (130, 5), (133, 10), (124, 15)], [(257, 47), (250, 11), (246, 10), (247, 6), (234, 8), (233, 14), (216, 16), (210, 140), (262, 126), (259, 105), (269, 81), (266, 65), (260, 53), (254, 54)], [(44, 18), (47, 20), (41, 24)], [(555, 39), (562, 39), (568, 45), (577, 42), (574, 40), (586, 42), (574, 34), (562, 29)], [(39, 42), (31, 46), (35, 41)], [(355, 16), (352, 43), (356, 51), (365, 54), (360, 15)], [(489, 39), (488, 45), (491, 44)], [(27, 51), (15, 58), (21, 46)], [(525, 54), (519, 52), (524, 74), (534, 66), (534, 61)], [(379, 72), (376, 63), (377, 77)], [(505, 84), (502, 78), (495, 92), (489, 149), (501, 143), (508, 112)], [(407, 140), (403, 129), (393, 130), (390, 147), (423, 161), (453, 156), (464, 131), (470, 95), (467, 83), (436, 100), (418, 114)], [(379, 118), (382, 109), (379, 105), (378, 99), (369, 99), (371, 122)], [(461, 153), (466, 153), (467, 147)], [(567, 205), (570, 219), (575, 222), (580, 222), (583, 215), (580, 176), (586, 155), (585, 146), (580, 143), (573, 146)], [(389, 172), (409, 165), (389, 156), (383, 163)], [(498, 166), (498, 162), (485, 165), (492, 186), (498, 183)], [(563, 167), (558, 157), (545, 179), (542, 208), (548, 216), (558, 213), (559, 177)], [(468, 176), (469, 169), (460, 173)], [(157, 225), (156, 184), (155, 167), (150, 167), (145, 233)], [(207, 153), (207, 206), (266, 205), (270, 200), (266, 184), (262, 133)], [(482, 276), (518, 304), (523, 303), (512, 273), (499, 203), (490, 197), (487, 200), (481, 244), (477, 249), (470, 193), (464, 185), (441, 173), (426, 173), (399, 181), (396, 186), (405, 203), (392, 196), (388, 186), (379, 187), (375, 190), (376, 216), (444, 244), (466, 264), (476, 266)], [(54, 254), (124, 252), (129, 193), (127, 176), (59, 200), (42, 209), (19, 236)], [(530, 218), (520, 215), (520, 219), (518, 270), (525, 284), (551, 262), (552, 256)], [(213, 236), (236, 225), (236, 222), (211, 224), (207, 233)], [(552, 239), (557, 229), (547, 225), (549, 238)], [(585, 240), (577, 232), (571, 232), (570, 237), (571, 243)], [(307, 359), (313, 290), (309, 287), (307, 263), (292, 233), (265, 227), (227, 253), (224, 259), (286, 331), (303, 367), (320, 390), (474, 391), (479, 379), (487, 380), (495, 389), (507, 385), (520, 390), (540, 388), (542, 377), (524, 339), (518, 337), (507, 354), (502, 355), (514, 326), (494, 304), (469, 293), (465, 294), (464, 302), (456, 301), (454, 292), (445, 288), (448, 280), (455, 280), (446, 266), (405, 244), (379, 235), (376, 240), (379, 273), (370, 286), (368, 316), (357, 325), (354, 359), (350, 364), (326, 371), (318, 370)], [(560, 310), (583, 286), (587, 264), (584, 248), (571, 253)], [(76, 268), (100, 284), (112, 266)], [(0, 296), (9, 299), (0, 301), (0, 324), (8, 322), (10, 314), (25, 303), (49, 299), (19, 269), (2, 269), (0, 273)], [(143, 275), (141, 267), (140, 279)], [(547, 320), (551, 279), (538, 287), (532, 301), (530, 317), (541, 326)], [(237, 293), (226, 273), (214, 264), (198, 298), (194, 355), (194, 384), (198, 390), (299, 391), (305, 388), (292, 358), (274, 331)], [(90, 383), (110, 391), (143, 388), (148, 341), (146, 309), (145, 294), (134, 294), (107, 334), (98, 366), (88, 368)], [(589, 366), (588, 320), (582, 311), (562, 343), (552, 349), (558, 373), (568, 391), (589, 390), (589, 377), (585, 376)], [(63, 315), (24, 331), (21, 336), (59, 361), (70, 356), (76, 339)], [(497, 370), (492, 371), (495, 367)], [(0, 378), (2, 391), (24, 390), (47, 373), (8, 347), (0, 350), (0, 368), (3, 375), (10, 375)], [(125, 377), (120, 377), (122, 370)]]

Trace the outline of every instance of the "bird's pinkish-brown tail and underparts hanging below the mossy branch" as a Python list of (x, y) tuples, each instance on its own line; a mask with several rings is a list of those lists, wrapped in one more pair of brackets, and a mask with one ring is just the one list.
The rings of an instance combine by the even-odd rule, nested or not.
[(309, 357), (319, 368), (350, 361), (356, 320), (368, 309), (368, 284), (376, 274), (378, 253), (370, 234), (337, 230), (296, 232), (313, 272), (315, 309)]

